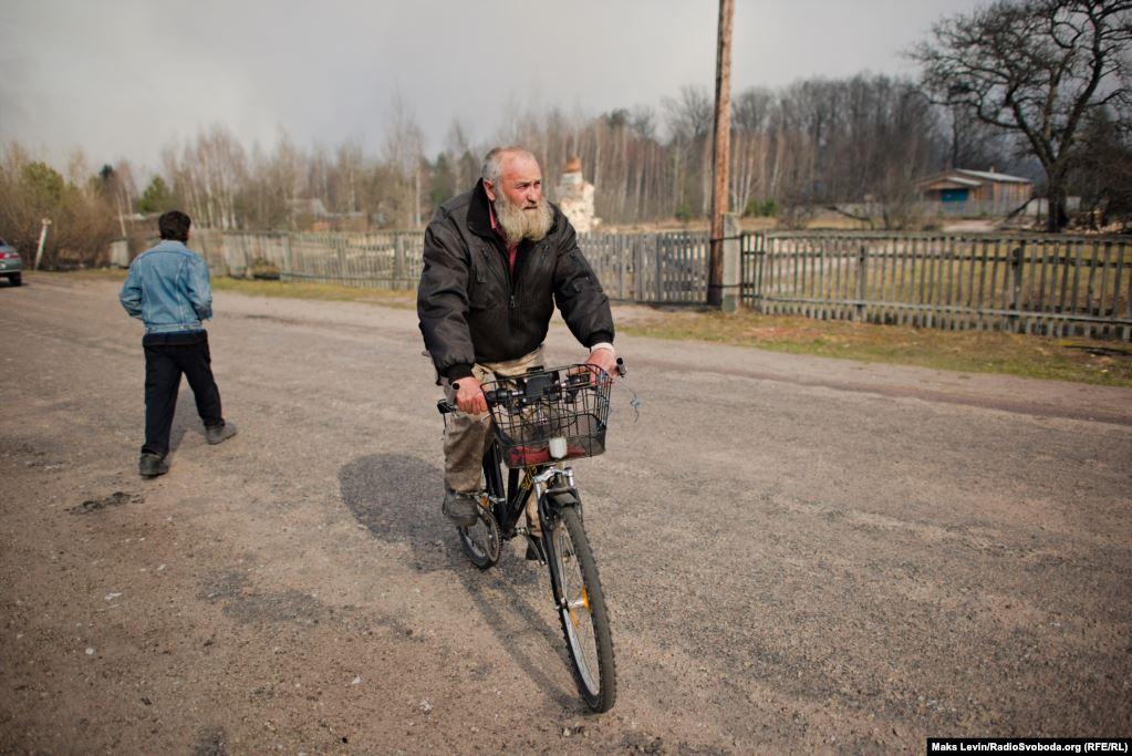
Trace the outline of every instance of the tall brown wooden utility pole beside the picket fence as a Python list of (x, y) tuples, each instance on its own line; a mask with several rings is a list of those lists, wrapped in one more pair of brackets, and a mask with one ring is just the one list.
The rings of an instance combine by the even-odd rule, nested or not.
[(723, 213), (728, 211), (728, 167), (731, 156), (731, 20), (735, 0), (719, 0), (719, 44), (715, 50), (715, 141), (711, 190), (711, 257), (707, 304), (723, 303)]

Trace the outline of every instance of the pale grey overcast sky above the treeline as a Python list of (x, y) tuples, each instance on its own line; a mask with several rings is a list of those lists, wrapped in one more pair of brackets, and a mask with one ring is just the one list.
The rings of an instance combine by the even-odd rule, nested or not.
[[(736, 0), (732, 92), (863, 70), (978, 0)], [(0, 0), (0, 140), (155, 169), (226, 124), (246, 147), (380, 148), (400, 92), (429, 153), (514, 108), (594, 115), (713, 86), (717, 0)]]

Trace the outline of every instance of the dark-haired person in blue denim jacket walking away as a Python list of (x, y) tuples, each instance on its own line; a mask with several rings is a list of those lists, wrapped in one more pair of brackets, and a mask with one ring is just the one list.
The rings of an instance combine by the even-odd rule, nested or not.
[(119, 294), (130, 317), (145, 324), (145, 444), (138, 461), (144, 478), (169, 472), (169, 433), (182, 373), (192, 388), (205, 439), (220, 444), (235, 435), (235, 426), (224, 421), (212, 373), (208, 333), (201, 325), (212, 318), (212, 284), (204, 259), (186, 246), (191, 225), (179, 211), (162, 215), (161, 243), (130, 264)]

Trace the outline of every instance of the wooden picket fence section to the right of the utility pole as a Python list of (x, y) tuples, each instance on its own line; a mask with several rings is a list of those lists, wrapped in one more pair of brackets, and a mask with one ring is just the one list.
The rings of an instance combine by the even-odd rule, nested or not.
[(749, 234), (743, 282), (766, 313), (1132, 337), (1127, 237)]

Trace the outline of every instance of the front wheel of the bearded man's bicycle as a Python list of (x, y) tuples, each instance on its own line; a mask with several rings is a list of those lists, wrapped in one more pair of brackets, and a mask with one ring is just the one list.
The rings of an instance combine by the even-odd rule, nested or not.
[(574, 680), (590, 708), (607, 712), (617, 697), (614, 638), (598, 565), (575, 507), (561, 509), (561, 518), (547, 541)]

